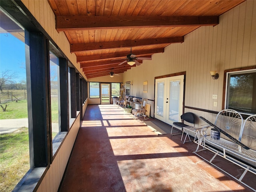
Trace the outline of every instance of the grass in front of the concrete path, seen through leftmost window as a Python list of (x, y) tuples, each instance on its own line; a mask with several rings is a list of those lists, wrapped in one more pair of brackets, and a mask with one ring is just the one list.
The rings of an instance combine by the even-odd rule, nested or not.
[(0, 134), (0, 192), (11, 192), (30, 168), (28, 128)]

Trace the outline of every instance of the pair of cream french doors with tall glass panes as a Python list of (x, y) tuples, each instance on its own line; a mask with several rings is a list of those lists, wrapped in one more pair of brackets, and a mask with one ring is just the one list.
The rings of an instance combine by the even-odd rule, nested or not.
[(156, 79), (154, 117), (170, 125), (180, 121), (183, 94), (184, 75)]

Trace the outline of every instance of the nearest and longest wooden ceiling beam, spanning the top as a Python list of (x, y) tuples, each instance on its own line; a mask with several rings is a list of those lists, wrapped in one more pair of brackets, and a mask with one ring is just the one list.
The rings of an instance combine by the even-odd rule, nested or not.
[(215, 26), (218, 16), (56, 16), (56, 30)]

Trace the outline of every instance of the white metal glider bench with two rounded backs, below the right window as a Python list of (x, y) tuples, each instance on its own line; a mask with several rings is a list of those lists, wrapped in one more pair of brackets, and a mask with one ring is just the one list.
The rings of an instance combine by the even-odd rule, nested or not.
[[(208, 120), (202, 119), (208, 122)], [(217, 114), (215, 124), (210, 122), (208, 124), (210, 126), (202, 128), (201, 138), (194, 140), (198, 144), (194, 154), (256, 192), (256, 189), (242, 181), (248, 171), (256, 175), (256, 114), (249, 116), (244, 121), (241, 114), (235, 110), (222, 110)], [(212, 134), (216, 131), (212, 130), (212, 127), (220, 129), (219, 137)], [(198, 135), (200, 134), (198, 133)], [(202, 149), (199, 150), (200, 146)], [(200, 155), (203, 150), (210, 150), (214, 156), (207, 160)], [(243, 174), (236, 178), (228, 171), (218, 167), (214, 164), (214, 158), (217, 155), (243, 168)]]

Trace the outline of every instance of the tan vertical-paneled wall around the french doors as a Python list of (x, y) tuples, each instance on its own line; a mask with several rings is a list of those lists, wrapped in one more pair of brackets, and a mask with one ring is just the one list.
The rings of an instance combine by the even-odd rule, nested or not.
[[(154, 54), (152, 61), (124, 72), (124, 82), (132, 80), (134, 84), (131, 95), (154, 100), (155, 77), (186, 71), (184, 105), (222, 110), (224, 70), (256, 65), (256, 0), (240, 4), (219, 20), (217, 26), (200, 27), (186, 35), (183, 43), (171, 44), (164, 53)], [(212, 79), (211, 70), (220, 74), (218, 80)], [(148, 81), (148, 93), (143, 93), (143, 81)], [(213, 106), (212, 94), (218, 94), (217, 107)], [(193, 112), (215, 118), (214, 114)]]

